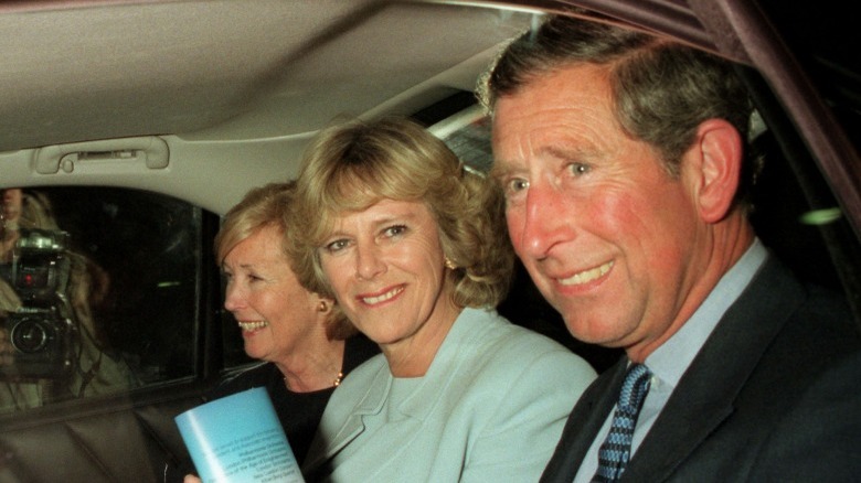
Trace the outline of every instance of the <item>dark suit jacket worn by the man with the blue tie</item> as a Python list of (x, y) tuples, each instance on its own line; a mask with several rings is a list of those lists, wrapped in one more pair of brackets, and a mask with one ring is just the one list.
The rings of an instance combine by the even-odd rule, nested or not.
[[(846, 302), (774, 257), (682, 376), (623, 481), (859, 481), (861, 341)], [(571, 482), (627, 359), (584, 393), (542, 476)]]

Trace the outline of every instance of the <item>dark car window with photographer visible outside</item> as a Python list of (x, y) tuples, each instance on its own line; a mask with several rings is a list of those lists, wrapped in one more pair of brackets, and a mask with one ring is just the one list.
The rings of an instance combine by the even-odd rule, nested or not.
[(2, 201), (0, 415), (194, 373), (200, 208), (115, 187)]

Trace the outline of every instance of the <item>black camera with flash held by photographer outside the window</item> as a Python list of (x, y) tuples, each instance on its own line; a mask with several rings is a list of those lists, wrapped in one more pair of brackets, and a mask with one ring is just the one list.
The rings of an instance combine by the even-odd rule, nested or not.
[(67, 242), (65, 232), (22, 229), (11, 267), (0, 271), (21, 299), (4, 321), (13, 363), (0, 365), (0, 379), (59, 379), (72, 371), (76, 325), (66, 297)]

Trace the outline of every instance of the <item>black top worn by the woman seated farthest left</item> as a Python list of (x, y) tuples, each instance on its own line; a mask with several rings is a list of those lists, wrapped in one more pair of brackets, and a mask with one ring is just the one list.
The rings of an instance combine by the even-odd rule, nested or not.
[[(379, 352), (376, 344), (361, 334), (348, 339), (341, 367), (343, 377)], [(273, 363), (263, 363), (223, 380), (212, 390), (206, 400), (219, 399), (254, 387), (266, 387), (296, 461), (301, 465), (322, 418), (326, 404), (334, 393), (334, 387), (313, 393), (293, 393), (287, 390), (284, 375), (278, 367)], [(189, 473), (196, 473), (190, 459), (178, 466), (168, 463), (164, 469), (164, 482), (181, 483)]]

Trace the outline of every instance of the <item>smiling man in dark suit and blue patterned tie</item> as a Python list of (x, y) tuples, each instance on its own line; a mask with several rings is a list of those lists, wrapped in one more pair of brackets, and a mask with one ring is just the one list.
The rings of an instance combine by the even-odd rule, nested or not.
[(543, 481), (861, 477), (859, 334), (748, 222), (753, 107), (732, 66), (557, 17), (481, 94), (518, 255), (575, 337), (627, 355)]

